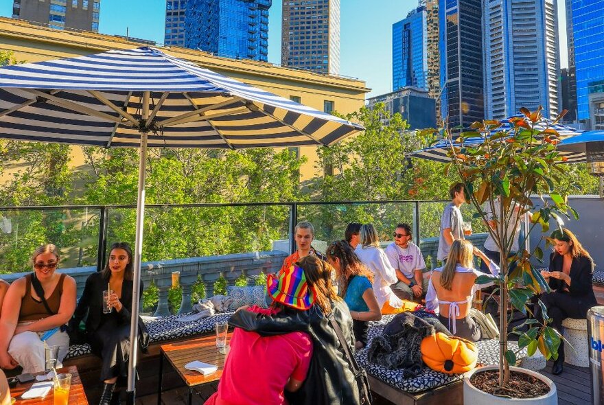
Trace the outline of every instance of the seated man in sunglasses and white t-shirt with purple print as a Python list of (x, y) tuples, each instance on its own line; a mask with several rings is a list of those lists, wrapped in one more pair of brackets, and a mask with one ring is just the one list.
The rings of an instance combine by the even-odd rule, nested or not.
[(394, 242), (386, 247), (385, 252), (399, 279), (391, 286), (393, 292), (400, 299), (420, 301), (428, 291), (428, 279), (423, 278), (426, 262), (412, 239), (411, 227), (397, 224)]

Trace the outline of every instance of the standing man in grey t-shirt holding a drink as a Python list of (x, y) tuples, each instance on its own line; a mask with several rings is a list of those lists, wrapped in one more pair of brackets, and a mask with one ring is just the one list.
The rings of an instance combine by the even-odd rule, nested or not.
[(441, 234), (439, 239), (439, 253), (437, 259), (441, 262), (447, 260), (449, 250), (453, 241), (463, 238), (463, 216), (459, 207), (465, 203), (465, 190), (463, 183), (455, 183), (449, 189), (451, 203), (445, 207), (443, 216), (441, 216)]

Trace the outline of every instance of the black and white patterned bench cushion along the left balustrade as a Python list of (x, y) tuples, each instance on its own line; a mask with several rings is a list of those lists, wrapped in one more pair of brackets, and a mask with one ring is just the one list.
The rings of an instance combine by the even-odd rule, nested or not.
[[(214, 325), (218, 321), (228, 321), (233, 312), (224, 312), (207, 318), (200, 319), (198, 321), (191, 322), (178, 322), (176, 319), (181, 316), (189, 316), (189, 314), (178, 314), (164, 316), (159, 319), (152, 319), (149, 321), (143, 321), (147, 325), (149, 331), (149, 343), (162, 342), (163, 340), (173, 340), (186, 338), (187, 336), (198, 336), (213, 332)], [(83, 356), (84, 354), (90, 354), (92, 351), (90, 345), (71, 345), (67, 351), (65, 359), (73, 358), (76, 356)]]

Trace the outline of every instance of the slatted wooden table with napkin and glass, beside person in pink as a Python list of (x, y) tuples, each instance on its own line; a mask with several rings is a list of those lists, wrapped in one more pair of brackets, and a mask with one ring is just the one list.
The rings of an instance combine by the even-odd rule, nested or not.
[[(227, 335), (227, 347), (233, 332)], [(166, 358), (172, 367), (178, 373), (178, 376), (187, 384), (188, 395), (187, 403), (191, 405), (193, 400), (193, 388), (209, 382), (220, 380), (222, 369), (224, 369), (224, 359), (226, 354), (221, 354), (216, 347), (216, 335), (206, 335), (200, 338), (185, 340), (183, 342), (168, 343), (161, 345), (159, 351), (159, 393), (157, 394), (157, 404), (161, 405), (161, 378), (163, 373), (163, 358)], [(185, 364), (199, 360), (208, 364), (215, 364), (218, 370), (209, 375), (203, 375), (198, 371), (185, 369)]]

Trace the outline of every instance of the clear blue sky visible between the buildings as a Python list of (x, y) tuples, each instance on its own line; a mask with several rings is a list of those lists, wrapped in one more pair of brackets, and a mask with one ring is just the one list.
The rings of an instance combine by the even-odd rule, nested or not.
[[(416, 0), (341, 0), (340, 74), (367, 82), (369, 97), (392, 86), (392, 24), (417, 7)], [(561, 66), (566, 56), (564, 1), (558, 0)], [(12, 0), (0, 1), (0, 16), (12, 15)], [(165, 0), (101, 0), (99, 32), (128, 34), (163, 43)], [(268, 60), (281, 62), (281, 0), (270, 8)]]

